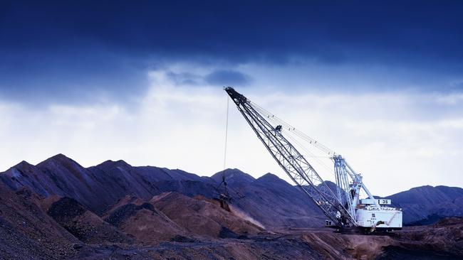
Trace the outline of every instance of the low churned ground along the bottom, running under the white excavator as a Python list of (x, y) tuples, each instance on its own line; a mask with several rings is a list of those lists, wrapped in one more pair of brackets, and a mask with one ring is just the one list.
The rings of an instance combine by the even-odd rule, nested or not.
[(138, 249), (87, 247), (74, 259), (461, 259), (463, 220), (457, 222), (388, 235), (298, 229), (236, 239), (163, 242)]

